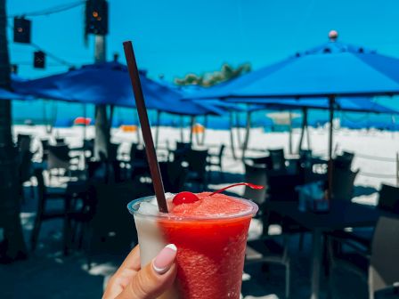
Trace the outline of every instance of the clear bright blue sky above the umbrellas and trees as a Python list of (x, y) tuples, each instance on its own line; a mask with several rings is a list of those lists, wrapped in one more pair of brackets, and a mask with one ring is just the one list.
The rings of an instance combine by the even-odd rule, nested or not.
[[(9, 15), (35, 12), (76, 0), (7, 0)], [(224, 62), (250, 62), (258, 69), (292, 53), (327, 41), (330, 29), (339, 39), (399, 56), (399, 2), (395, 0), (109, 0), (107, 56), (121, 54), (122, 42), (134, 41), (139, 67), (167, 79), (188, 72), (219, 69)], [(45, 51), (80, 65), (94, 61), (94, 39), (83, 37), (84, 6), (32, 17), (32, 40)], [(11, 60), (20, 76), (43, 77), (66, 70), (30, 64), (34, 48), (11, 41)], [(28, 65), (26, 65), (28, 64)]]

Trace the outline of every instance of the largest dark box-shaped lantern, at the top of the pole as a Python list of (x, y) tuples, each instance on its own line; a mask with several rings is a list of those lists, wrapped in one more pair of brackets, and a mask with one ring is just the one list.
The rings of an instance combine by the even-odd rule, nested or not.
[(100, 36), (108, 34), (108, 2), (106, 0), (86, 0), (85, 34)]

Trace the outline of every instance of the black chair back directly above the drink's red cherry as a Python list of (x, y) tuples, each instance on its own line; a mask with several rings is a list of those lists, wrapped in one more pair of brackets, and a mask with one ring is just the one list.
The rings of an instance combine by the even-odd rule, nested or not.
[(191, 149), (185, 154), (185, 160), (189, 165), (187, 182), (198, 184), (199, 190), (204, 190), (207, 186), (207, 159), (208, 150)]

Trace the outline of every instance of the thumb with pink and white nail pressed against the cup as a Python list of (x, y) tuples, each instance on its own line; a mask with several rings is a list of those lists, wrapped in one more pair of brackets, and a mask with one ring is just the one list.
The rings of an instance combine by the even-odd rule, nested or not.
[(165, 246), (151, 263), (137, 272), (117, 299), (152, 299), (162, 295), (175, 281), (176, 253), (174, 244)]

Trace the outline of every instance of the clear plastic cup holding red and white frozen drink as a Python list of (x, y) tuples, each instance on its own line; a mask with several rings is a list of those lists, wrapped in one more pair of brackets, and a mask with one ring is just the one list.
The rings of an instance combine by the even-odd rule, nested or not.
[(238, 299), (249, 222), (257, 212), (253, 202), (233, 198), (246, 208), (238, 214), (221, 216), (182, 216), (146, 214), (139, 211), (139, 198), (127, 207), (134, 215), (142, 266), (167, 244), (177, 246), (177, 279), (163, 299)]

